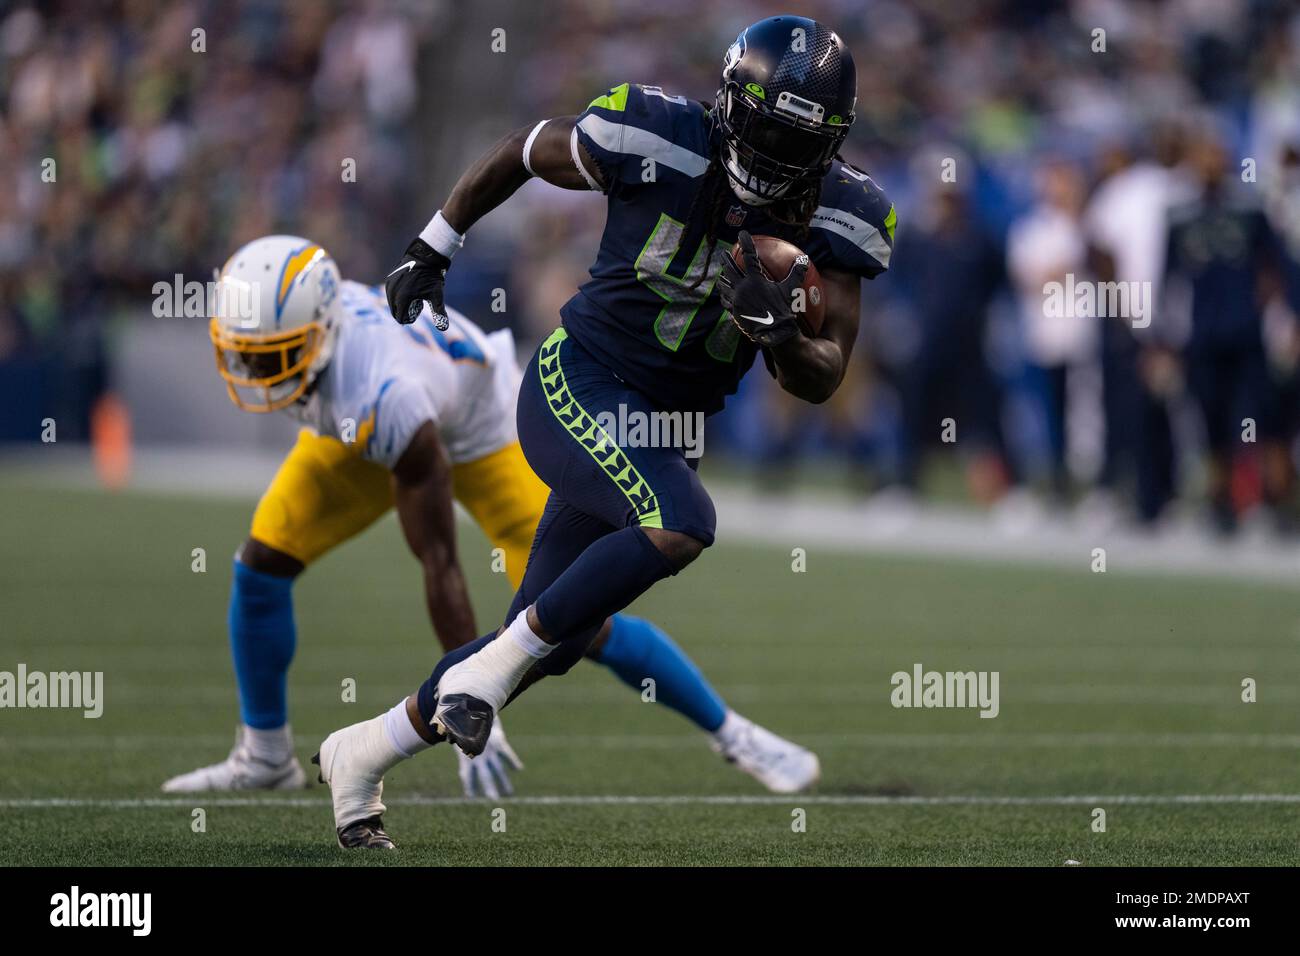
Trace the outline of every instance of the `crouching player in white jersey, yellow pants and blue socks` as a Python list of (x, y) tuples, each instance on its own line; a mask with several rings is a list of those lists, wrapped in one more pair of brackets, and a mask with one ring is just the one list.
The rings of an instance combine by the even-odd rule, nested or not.
[[(306, 784), (286, 675), (296, 644), (291, 589), (308, 564), (395, 507), (424, 568), (438, 640), (446, 650), (460, 648), (478, 631), (456, 557), (452, 501), (504, 551), (517, 588), (549, 493), (515, 436), (520, 371), (508, 332), (485, 334), (455, 310), (443, 329), (428, 310), (399, 326), (381, 287), (344, 281), (324, 248), (292, 235), (237, 251), (217, 287), (209, 334), (230, 399), (246, 411), (292, 415), (306, 428), (234, 561), (229, 627), (242, 718), (234, 749), (220, 763), (169, 779), (168, 792)], [(797, 792), (818, 779), (814, 753), (727, 708), (654, 624), (616, 615), (589, 657), (637, 693), (653, 679), (659, 702), (710, 734), (719, 753), (768, 790)], [(396, 730), (399, 740), (411, 734)], [(499, 722), (477, 758), (456, 753), (467, 796), (511, 792), (507, 770), (520, 763)], [(387, 838), (358, 827), (339, 840), (382, 847)]]

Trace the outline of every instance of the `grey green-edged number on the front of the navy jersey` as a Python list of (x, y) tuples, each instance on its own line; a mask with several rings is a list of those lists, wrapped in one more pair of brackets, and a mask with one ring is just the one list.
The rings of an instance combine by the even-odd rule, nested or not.
[[(682, 278), (668, 274), (668, 265), (677, 255), (681, 237), (686, 228), (667, 213), (659, 215), (654, 232), (641, 247), (637, 256), (637, 281), (644, 282), (650, 291), (663, 299), (667, 304), (659, 310), (654, 320), (654, 334), (663, 346), (671, 351), (677, 351), (686, 339), (686, 330), (694, 321), (699, 307), (705, 304), (718, 282), (718, 273), (722, 263), (715, 250), (714, 256), (708, 256), (708, 243), (701, 239), (699, 248), (696, 250), (690, 260), (690, 268)], [(725, 252), (723, 252), (725, 255)], [(705, 261), (708, 259), (708, 261)], [(740, 342), (740, 329), (731, 320), (729, 312), (723, 312), (708, 333), (705, 350), (719, 362), (731, 362), (736, 358), (736, 346)]]

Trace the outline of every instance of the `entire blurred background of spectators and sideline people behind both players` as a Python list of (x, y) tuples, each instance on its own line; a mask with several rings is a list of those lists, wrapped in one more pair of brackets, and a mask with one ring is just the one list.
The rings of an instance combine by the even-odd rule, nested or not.
[[(774, 483), (832, 460), (900, 497), (958, 473), (1001, 507), (1158, 523), (1191, 503), (1222, 529), (1284, 524), (1300, 428), (1295, 4), (784, 7), (550, 0), (510, 40), (508, 88), (458, 69), (437, 95), (421, 64), (464, 64), (456, 31), (468, 9), (488, 10), (476, 30), (494, 22), (490, 0), (12, 7), (0, 401), (36, 382), (84, 403), (105, 388), (113, 324), (155, 281), (211, 273), (257, 234), (308, 234), (344, 274), (377, 277), (482, 147), (480, 126), (575, 113), (624, 81), (708, 100), (737, 30), (796, 12), (857, 60), (844, 153), (898, 209), (893, 267), (864, 286), (828, 407), (788, 402), (755, 372), (710, 449)], [(516, 22), (508, 5), (499, 18)], [(195, 23), (220, 56), (194, 52)], [(472, 120), (472, 135), (445, 135)], [(452, 303), (526, 347), (581, 281), (602, 221), (592, 196), (525, 189), (476, 228)], [(1067, 297), (1062, 312), (1054, 284), (1134, 284), (1135, 298), (1114, 315)], [(495, 287), (504, 316), (480, 308)], [(12, 427), (0, 414), (0, 438)]]

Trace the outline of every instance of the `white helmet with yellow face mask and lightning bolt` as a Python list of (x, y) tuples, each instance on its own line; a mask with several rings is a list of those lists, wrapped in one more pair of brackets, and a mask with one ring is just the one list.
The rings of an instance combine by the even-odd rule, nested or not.
[(255, 239), (226, 260), (208, 334), (231, 402), (268, 412), (307, 392), (334, 351), (341, 281), (329, 252), (296, 235)]

